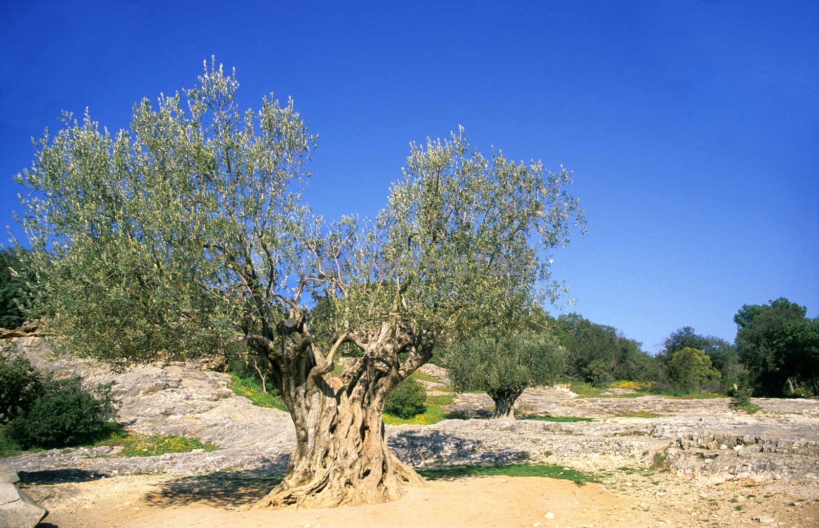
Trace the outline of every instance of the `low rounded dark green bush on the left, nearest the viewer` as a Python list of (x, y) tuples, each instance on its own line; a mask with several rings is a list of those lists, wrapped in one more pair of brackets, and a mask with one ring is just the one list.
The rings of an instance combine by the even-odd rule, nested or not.
[(115, 416), (111, 385), (97, 397), (85, 392), (80, 378), (43, 383), (43, 394), (31, 408), (8, 423), (4, 433), (24, 450), (88, 444), (106, 436), (106, 423)]

